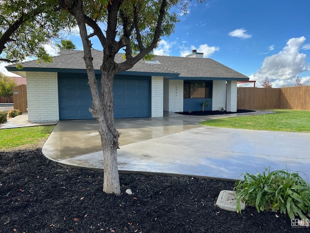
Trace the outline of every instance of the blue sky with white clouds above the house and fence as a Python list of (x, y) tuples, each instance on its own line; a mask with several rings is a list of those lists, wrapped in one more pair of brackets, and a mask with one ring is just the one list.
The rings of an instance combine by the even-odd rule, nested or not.
[[(187, 14), (175, 10), (181, 22), (155, 54), (185, 56), (197, 49), (257, 81), (257, 87), (265, 77), (273, 87), (292, 86), (297, 75), (310, 85), (309, 0), (193, 0)], [(67, 38), (82, 50), (78, 35)]]

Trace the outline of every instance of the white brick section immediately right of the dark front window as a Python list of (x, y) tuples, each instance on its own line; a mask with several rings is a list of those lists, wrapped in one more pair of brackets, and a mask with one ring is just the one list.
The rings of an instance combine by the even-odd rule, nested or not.
[(226, 81), (214, 80), (212, 90), (212, 111), (226, 109)]

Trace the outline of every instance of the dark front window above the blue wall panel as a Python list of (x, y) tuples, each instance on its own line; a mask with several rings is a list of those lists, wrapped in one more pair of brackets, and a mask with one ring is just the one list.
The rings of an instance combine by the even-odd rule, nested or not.
[(184, 99), (212, 98), (212, 82), (184, 81)]

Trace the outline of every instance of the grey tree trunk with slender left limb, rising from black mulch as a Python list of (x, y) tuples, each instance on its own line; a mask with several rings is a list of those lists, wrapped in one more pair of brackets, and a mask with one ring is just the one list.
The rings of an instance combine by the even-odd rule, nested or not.
[(114, 57), (116, 52), (104, 51), (103, 65), (101, 66), (101, 100), (98, 94), (98, 85), (93, 68), (92, 44), (88, 39), (87, 30), (84, 21), (84, 14), (82, 11), (83, 3), (78, 1), (78, 4), (73, 9), (80, 36), (84, 48), (84, 60), (87, 70), (89, 85), (93, 97), (93, 108), (90, 109), (94, 118), (97, 119), (99, 125), (99, 133), (101, 136), (101, 146), (104, 159), (104, 180), (103, 191), (106, 193), (121, 194), (120, 180), (117, 167), (118, 149), (118, 132), (114, 126), (113, 116), (113, 79), (115, 76), (116, 64)]

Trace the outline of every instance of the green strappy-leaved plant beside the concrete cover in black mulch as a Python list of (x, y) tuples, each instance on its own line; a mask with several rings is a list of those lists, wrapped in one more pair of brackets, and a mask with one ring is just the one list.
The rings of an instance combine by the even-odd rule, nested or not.
[(298, 173), (270, 172), (270, 167), (263, 174), (245, 173), (244, 180), (237, 181), (234, 190), (238, 199), (237, 212), (241, 211), (241, 201), (245, 201), (249, 206), (256, 206), (258, 212), (280, 211), (290, 219), (310, 217), (310, 185)]

